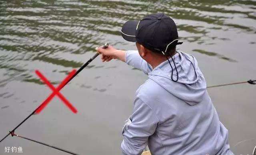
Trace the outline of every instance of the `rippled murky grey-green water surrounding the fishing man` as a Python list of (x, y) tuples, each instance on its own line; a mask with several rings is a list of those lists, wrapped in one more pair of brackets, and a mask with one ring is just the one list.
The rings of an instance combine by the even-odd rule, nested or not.
[[(106, 41), (135, 49), (120, 36), (122, 24), (156, 12), (174, 18), (184, 41), (179, 50), (198, 59), (208, 86), (256, 78), (254, 0), (1, 1), (0, 137), (50, 94), (36, 69), (57, 85)], [(16, 133), (80, 154), (120, 154), (123, 122), (146, 78), (120, 61), (101, 63), (97, 58), (62, 90), (78, 114), (56, 97)], [(256, 87), (240, 84), (208, 92), (229, 129), (231, 149), (251, 154), (256, 145)], [(0, 154), (12, 146), (22, 147), (26, 155), (62, 154), (18, 137), (0, 143)]]

